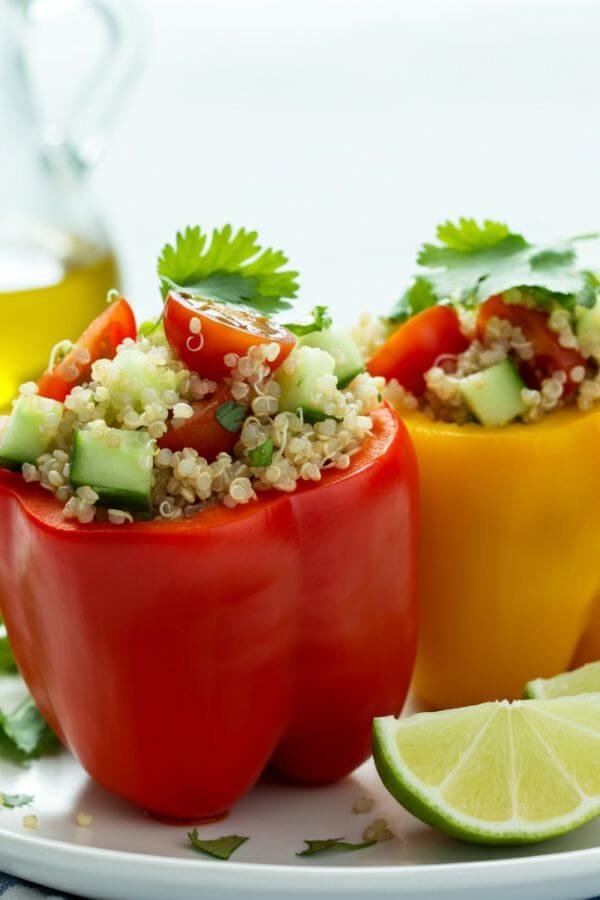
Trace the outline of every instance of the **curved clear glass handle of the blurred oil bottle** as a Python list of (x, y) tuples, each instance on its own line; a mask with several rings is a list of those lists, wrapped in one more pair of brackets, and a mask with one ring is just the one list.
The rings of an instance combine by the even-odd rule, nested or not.
[[(106, 137), (140, 65), (141, 22), (130, 0), (78, 0), (101, 20), (107, 47), (66, 111), (63, 122), (48, 122), (42, 133), (51, 165), (82, 176), (100, 158)], [(54, 8), (55, 6), (58, 9)], [(30, 0), (31, 22), (64, 14), (64, 4)]]

